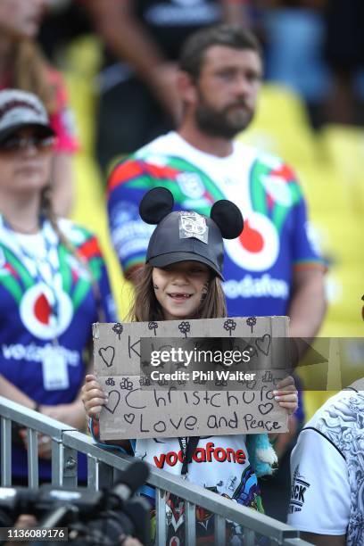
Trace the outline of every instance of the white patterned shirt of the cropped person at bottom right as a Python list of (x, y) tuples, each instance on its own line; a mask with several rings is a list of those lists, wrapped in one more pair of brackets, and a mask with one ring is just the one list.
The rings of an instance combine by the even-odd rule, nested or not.
[(302, 430), (291, 456), (288, 524), (364, 544), (364, 393), (335, 394)]

